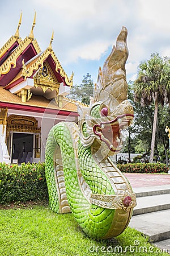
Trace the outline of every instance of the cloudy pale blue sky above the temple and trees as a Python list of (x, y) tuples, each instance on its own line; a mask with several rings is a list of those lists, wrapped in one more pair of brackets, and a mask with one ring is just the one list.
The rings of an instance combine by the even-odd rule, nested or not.
[(127, 81), (151, 53), (170, 57), (169, 0), (6, 0), (0, 8), (0, 47), (15, 34), (21, 11), (19, 34), (28, 36), (36, 11), (33, 34), (41, 50), (54, 31), (53, 50), (67, 75), (74, 72), (74, 85), (87, 73), (97, 81), (122, 26), (128, 29)]

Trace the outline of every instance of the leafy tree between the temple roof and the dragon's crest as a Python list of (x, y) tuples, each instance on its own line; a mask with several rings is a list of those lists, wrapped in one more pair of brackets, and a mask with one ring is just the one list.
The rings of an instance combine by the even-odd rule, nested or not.
[(69, 97), (85, 104), (90, 104), (90, 96), (93, 96), (93, 92), (94, 81), (91, 79), (91, 75), (87, 73), (86, 76), (83, 76), (82, 84), (73, 85)]

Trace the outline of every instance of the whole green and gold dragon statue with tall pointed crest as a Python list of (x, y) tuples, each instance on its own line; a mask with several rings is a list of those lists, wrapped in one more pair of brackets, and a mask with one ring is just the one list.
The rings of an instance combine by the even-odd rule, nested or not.
[(111, 157), (121, 151), (124, 130), (133, 121), (127, 100), (127, 30), (99, 68), (90, 106), (78, 106), (79, 122), (59, 122), (46, 142), (45, 174), (49, 206), (72, 212), (83, 231), (96, 239), (116, 237), (129, 224), (135, 193)]

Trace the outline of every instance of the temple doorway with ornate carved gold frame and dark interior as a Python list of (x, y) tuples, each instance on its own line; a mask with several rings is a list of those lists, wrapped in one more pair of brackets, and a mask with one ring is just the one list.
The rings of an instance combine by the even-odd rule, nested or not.
[(10, 163), (41, 162), (41, 129), (34, 117), (10, 115), (7, 118), (6, 144)]

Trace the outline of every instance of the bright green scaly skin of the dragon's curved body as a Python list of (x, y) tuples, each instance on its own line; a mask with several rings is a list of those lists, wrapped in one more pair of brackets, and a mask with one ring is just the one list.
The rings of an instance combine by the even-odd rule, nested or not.
[[(80, 141), (75, 142), (78, 127), (75, 123), (60, 122), (54, 126), (48, 135), (46, 142), (46, 181), (49, 191), (49, 205), (54, 212), (65, 212), (68, 206), (61, 206), (61, 193), (57, 189), (58, 181), (56, 179), (57, 167), (56, 164), (56, 149), (61, 151), (66, 197), (69, 201), (71, 212), (76, 221), (82, 227), (83, 231), (88, 236), (94, 238), (109, 238), (107, 234), (111, 233), (112, 222), (114, 219), (114, 209), (104, 209), (91, 204), (82, 189), (79, 187), (78, 170), (80, 169), (84, 180), (91, 188), (91, 192), (99, 195), (114, 195), (113, 187), (107, 175), (97, 166), (92, 158), (91, 148), (84, 148)], [(58, 147), (59, 146), (59, 147)], [(60, 150), (59, 150), (60, 148)], [(78, 166), (79, 165), (79, 166)], [(58, 172), (61, 172), (60, 170)], [(61, 189), (63, 184), (61, 185)], [(66, 212), (68, 212), (66, 210)], [(125, 214), (125, 213), (123, 213)], [(131, 212), (129, 212), (131, 216)], [(127, 223), (121, 227), (116, 233), (121, 233)], [(114, 234), (115, 236), (115, 234)]]

